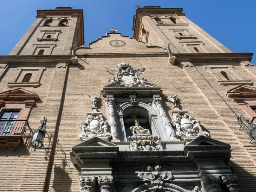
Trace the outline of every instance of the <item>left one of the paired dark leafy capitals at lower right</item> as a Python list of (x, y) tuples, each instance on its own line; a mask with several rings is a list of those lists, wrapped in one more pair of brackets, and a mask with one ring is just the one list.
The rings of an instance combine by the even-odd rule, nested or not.
[(214, 175), (214, 176), (204, 175), (202, 180), (203, 180), (205, 189), (207, 189), (207, 192), (222, 192), (222, 189), (220, 186), (221, 179), (218, 175)]

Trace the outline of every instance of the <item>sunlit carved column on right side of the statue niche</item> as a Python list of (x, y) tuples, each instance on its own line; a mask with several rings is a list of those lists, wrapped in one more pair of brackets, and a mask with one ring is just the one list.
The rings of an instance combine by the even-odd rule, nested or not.
[(172, 124), (167, 117), (166, 112), (162, 106), (162, 98), (160, 96), (153, 96), (153, 103), (157, 107), (157, 111), (163, 121), (164, 127), (166, 128), (166, 132), (168, 134), (169, 140), (177, 139), (174, 129), (172, 128)]

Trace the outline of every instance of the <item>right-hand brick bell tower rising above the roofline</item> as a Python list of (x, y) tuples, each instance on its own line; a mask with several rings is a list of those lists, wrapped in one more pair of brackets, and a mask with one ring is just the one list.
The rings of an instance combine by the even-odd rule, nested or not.
[(231, 52), (207, 32), (192, 23), (182, 8), (145, 6), (136, 9), (134, 38), (164, 48), (171, 53)]

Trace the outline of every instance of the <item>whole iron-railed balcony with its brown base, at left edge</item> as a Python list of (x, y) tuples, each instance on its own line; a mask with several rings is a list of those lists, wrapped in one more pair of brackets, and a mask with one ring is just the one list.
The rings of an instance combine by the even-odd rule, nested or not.
[(0, 147), (13, 151), (23, 142), (28, 120), (0, 120)]

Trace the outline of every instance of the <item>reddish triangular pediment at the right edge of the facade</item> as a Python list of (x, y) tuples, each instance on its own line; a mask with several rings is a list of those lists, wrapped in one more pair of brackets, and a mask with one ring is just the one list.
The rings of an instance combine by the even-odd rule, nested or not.
[(246, 99), (256, 99), (256, 88), (239, 85), (227, 91), (228, 97), (232, 98), (234, 102), (239, 105), (244, 104)]

